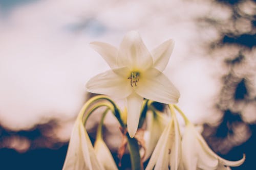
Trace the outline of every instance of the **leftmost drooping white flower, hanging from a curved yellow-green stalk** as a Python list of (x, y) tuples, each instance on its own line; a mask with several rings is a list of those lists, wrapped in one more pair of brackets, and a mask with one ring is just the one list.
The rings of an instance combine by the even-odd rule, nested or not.
[(76, 119), (62, 170), (102, 170), (82, 120)]

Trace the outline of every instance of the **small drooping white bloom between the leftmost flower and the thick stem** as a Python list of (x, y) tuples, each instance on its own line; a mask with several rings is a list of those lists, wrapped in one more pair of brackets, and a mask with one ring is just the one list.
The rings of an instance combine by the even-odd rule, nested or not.
[(102, 139), (95, 141), (94, 149), (99, 162), (101, 162), (105, 170), (118, 170), (109, 148)]

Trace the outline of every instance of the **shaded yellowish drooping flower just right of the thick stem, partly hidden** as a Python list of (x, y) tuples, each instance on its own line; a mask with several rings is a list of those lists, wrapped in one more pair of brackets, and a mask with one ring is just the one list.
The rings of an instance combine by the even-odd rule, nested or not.
[(165, 114), (148, 111), (146, 116), (147, 128), (144, 132), (144, 140), (146, 144), (144, 161), (146, 161), (154, 151), (157, 141), (164, 131), (164, 128), (167, 126), (169, 119), (170, 117)]

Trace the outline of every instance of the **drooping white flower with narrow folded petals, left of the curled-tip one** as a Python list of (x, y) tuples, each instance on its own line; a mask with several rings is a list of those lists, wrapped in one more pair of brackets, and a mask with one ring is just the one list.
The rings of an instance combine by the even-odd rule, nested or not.
[(176, 115), (173, 114), (172, 119), (159, 138), (145, 170), (152, 170), (153, 168), (155, 170), (177, 170), (180, 158), (181, 136)]

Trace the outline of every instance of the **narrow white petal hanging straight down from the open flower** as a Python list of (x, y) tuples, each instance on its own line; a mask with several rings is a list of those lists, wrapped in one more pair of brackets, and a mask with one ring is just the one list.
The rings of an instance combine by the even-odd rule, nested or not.
[(143, 98), (135, 92), (127, 97), (127, 129), (131, 137), (138, 129), (142, 103)]

